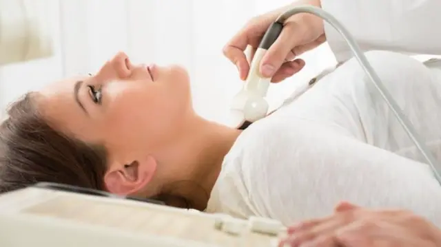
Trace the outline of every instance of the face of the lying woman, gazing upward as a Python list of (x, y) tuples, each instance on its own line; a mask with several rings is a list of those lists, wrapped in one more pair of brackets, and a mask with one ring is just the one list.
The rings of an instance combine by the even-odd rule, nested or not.
[(40, 93), (39, 107), (56, 129), (103, 144), (110, 162), (121, 164), (160, 149), (193, 114), (185, 69), (133, 65), (123, 53), (94, 76), (54, 83)]

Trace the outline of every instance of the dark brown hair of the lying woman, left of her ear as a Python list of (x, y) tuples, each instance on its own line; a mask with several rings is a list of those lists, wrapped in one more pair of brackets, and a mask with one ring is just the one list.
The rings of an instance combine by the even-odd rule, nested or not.
[(13, 103), (0, 125), (0, 193), (36, 182), (103, 191), (106, 152), (50, 127), (29, 93)]

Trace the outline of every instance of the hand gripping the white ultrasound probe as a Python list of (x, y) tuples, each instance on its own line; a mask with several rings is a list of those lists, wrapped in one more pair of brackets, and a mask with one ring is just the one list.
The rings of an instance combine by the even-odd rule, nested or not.
[[(249, 64), (244, 53), (247, 45), (251, 45), (254, 49), (258, 47), (263, 34), (280, 14), (293, 6), (305, 4), (320, 7), (320, 0), (296, 1), (289, 6), (254, 17), (225, 45), (223, 53), (238, 67), (242, 80), (247, 78), (249, 71)], [(307, 13), (295, 14), (287, 20), (279, 38), (263, 58), (260, 73), (266, 78), (271, 77), (274, 83), (285, 80), (305, 66), (305, 61), (294, 60), (296, 56), (325, 41), (322, 19)]]

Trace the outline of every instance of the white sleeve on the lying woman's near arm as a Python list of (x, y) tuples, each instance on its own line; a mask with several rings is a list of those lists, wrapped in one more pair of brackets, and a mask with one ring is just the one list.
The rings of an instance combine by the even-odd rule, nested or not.
[(258, 215), (289, 226), (325, 217), (345, 200), (406, 208), (441, 226), (441, 188), (427, 165), (314, 122), (288, 125), (256, 129), (243, 155), (243, 181)]

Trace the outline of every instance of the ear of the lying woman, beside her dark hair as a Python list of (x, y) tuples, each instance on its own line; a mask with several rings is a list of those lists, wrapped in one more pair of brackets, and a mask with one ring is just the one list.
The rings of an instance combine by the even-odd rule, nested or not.
[(113, 164), (104, 175), (107, 191), (117, 195), (137, 193), (152, 180), (156, 167), (156, 160), (151, 155), (130, 164)]

